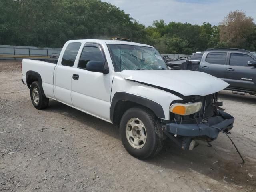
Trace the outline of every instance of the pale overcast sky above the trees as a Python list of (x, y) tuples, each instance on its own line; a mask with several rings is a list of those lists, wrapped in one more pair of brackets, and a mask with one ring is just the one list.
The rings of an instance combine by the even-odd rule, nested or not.
[(102, 0), (148, 26), (153, 20), (218, 25), (232, 10), (243, 10), (256, 22), (256, 0)]

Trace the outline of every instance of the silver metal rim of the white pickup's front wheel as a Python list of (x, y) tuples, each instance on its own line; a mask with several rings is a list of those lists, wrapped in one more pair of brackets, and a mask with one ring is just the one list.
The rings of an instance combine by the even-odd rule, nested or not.
[(141, 120), (138, 118), (131, 118), (127, 122), (126, 138), (133, 148), (140, 149), (145, 145), (147, 132)]

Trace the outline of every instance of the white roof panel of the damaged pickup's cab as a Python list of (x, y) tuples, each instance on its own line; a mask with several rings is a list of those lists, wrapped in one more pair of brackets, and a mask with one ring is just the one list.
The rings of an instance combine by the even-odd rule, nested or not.
[(152, 47), (150, 45), (146, 44), (140, 44), (140, 43), (134, 43), (134, 42), (129, 42), (129, 41), (118, 41), (118, 40), (106, 40), (106, 39), (77, 39), (77, 40), (70, 40), (68, 43), (71, 42), (92, 42), (92, 43), (99, 43), (99, 44), (122, 44), (122, 45), (136, 45), (136, 46), (144, 46), (144, 47)]

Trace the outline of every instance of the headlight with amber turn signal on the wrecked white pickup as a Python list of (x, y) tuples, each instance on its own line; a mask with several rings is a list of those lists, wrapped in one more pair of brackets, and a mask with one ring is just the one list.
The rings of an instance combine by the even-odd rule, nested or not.
[(178, 115), (191, 115), (202, 108), (202, 102), (195, 103), (175, 103), (170, 106), (170, 112)]

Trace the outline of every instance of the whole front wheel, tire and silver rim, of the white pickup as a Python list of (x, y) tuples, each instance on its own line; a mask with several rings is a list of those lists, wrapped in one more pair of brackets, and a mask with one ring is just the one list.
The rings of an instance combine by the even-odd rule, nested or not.
[(139, 159), (151, 158), (163, 146), (160, 121), (147, 108), (128, 109), (120, 122), (120, 135), (124, 148)]

